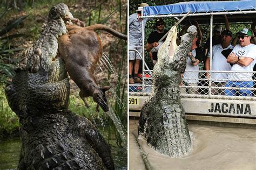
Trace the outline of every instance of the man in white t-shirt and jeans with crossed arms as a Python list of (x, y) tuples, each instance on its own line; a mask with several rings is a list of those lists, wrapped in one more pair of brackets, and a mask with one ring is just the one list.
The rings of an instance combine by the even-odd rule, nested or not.
[(232, 71), (237, 73), (228, 74), (228, 81), (225, 87), (236, 87), (245, 89), (225, 89), (227, 96), (252, 96), (252, 91), (248, 88), (253, 87), (252, 72), (256, 59), (256, 45), (251, 44), (252, 31), (246, 28), (238, 33), (239, 44), (228, 55), (227, 62), (233, 63)]

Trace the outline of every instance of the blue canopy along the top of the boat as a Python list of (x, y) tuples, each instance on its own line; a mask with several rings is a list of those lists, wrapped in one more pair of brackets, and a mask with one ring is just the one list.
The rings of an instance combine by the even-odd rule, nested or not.
[(180, 2), (171, 5), (145, 6), (144, 16), (187, 13), (230, 12), (256, 10), (256, 1)]

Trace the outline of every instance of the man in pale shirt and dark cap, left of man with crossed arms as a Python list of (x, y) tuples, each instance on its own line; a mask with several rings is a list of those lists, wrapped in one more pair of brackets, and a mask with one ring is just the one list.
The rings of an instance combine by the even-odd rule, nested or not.
[[(221, 43), (212, 47), (212, 70), (213, 71), (230, 71), (231, 65), (227, 63), (227, 59), (221, 53), (226, 49), (233, 49), (234, 47), (230, 44), (232, 40), (232, 32), (224, 30), (221, 32)], [(205, 61), (206, 70), (210, 70), (210, 54)], [(208, 74), (206, 74), (209, 77)], [(224, 87), (227, 81), (227, 73), (212, 73), (212, 87)], [(212, 95), (225, 95), (224, 89), (212, 88)]]

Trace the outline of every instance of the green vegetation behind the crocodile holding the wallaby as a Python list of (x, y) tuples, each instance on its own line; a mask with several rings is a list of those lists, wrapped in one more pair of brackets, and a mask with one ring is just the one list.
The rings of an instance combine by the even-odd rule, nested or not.
[[(71, 13), (75, 18), (84, 21), (86, 25), (105, 24), (114, 30), (126, 34), (127, 32), (127, 2), (126, 1), (23, 1), (22, 4), (13, 4), (14, 1), (3, 1), (0, 7), (0, 88), (1, 88), (1, 113), (0, 113), (0, 136), (1, 134), (11, 134), (18, 130), (18, 117), (11, 111), (4, 94), (4, 87), (11, 82), (15, 75), (14, 68), (19, 59), (24, 55), (26, 48), (30, 47), (38, 38), (42, 31), (42, 25), (47, 22), (50, 8), (57, 3), (65, 3), (69, 6)], [(103, 8), (104, 6), (104, 8)], [(124, 12), (125, 11), (125, 12)], [(111, 72), (109, 66), (99, 66), (96, 69), (96, 79), (101, 86), (112, 84), (108, 92), (109, 103), (115, 114), (119, 117), (124, 128), (127, 130), (127, 93), (126, 89), (126, 61), (127, 61), (127, 42), (106, 36), (105, 32), (98, 32), (102, 38), (104, 52), (109, 56), (111, 67), (117, 74)], [(106, 79), (97, 75), (101, 72), (105, 74)], [(113, 79), (114, 77), (114, 79)], [(90, 108), (84, 106), (83, 101), (78, 95), (79, 89), (74, 83), (71, 83), (71, 95), (69, 109), (78, 115), (84, 116), (95, 125), (109, 124), (112, 128), (107, 129), (108, 139), (112, 136), (118, 138), (114, 125), (110, 118), (100, 109), (96, 112), (96, 103), (88, 98)], [(112, 133), (112, 134), (111, 134)]]

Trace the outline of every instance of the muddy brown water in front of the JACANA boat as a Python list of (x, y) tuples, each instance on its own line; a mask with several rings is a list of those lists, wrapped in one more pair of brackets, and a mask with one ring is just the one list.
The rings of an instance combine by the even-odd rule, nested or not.
[[(130, 169), (145, 169), (130, 120)], [(193, 150), (184, 158), (169, 158), (138, 140), (152, 169), (256, 169), (256, 130), (188, 124)]]

